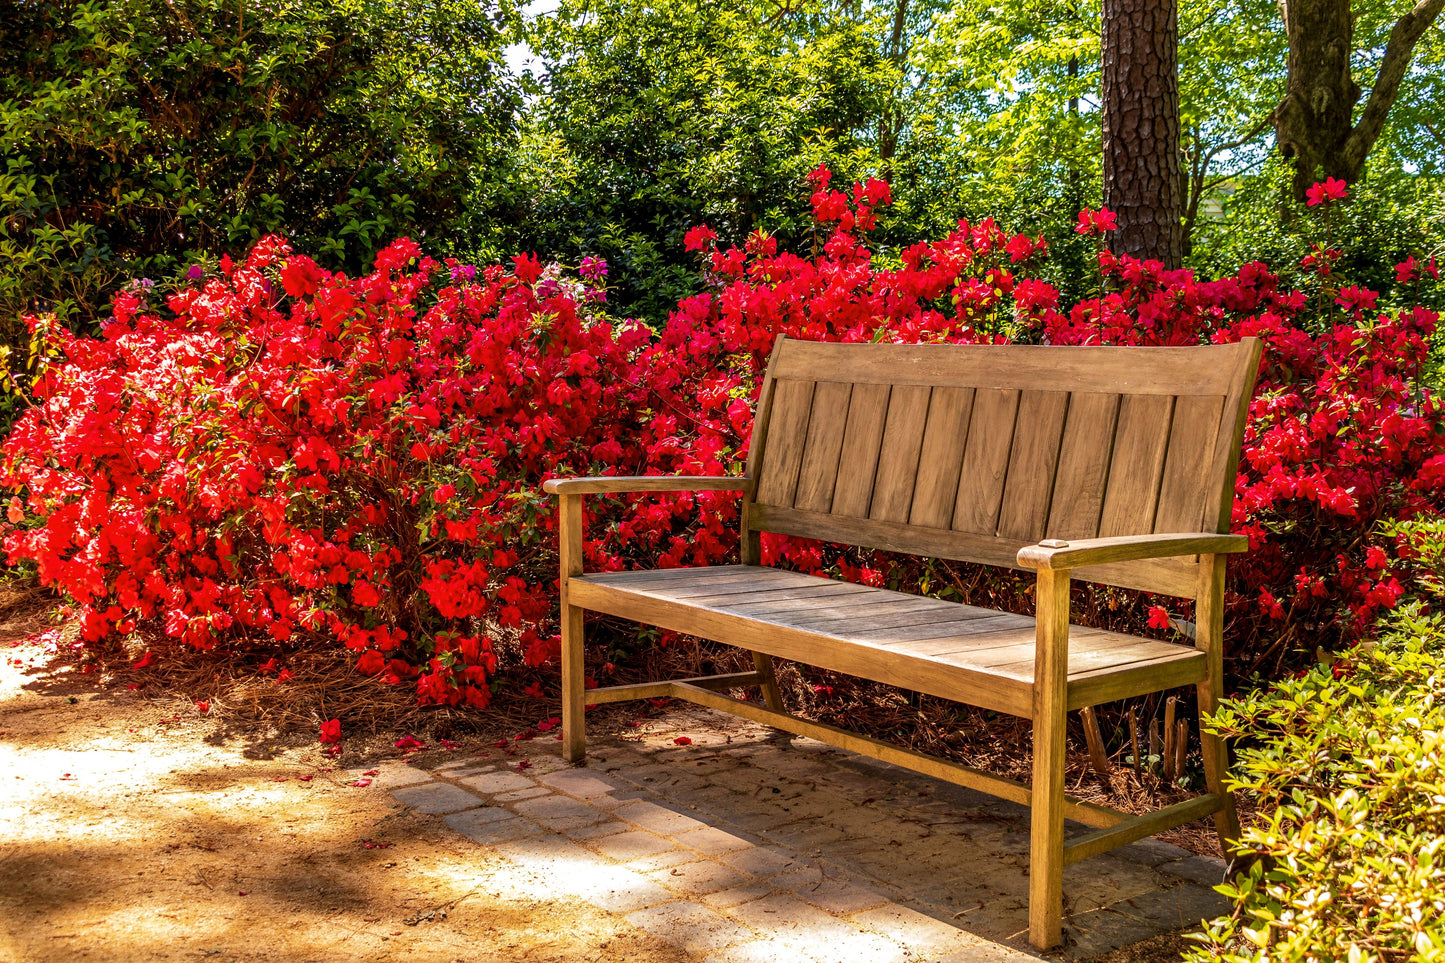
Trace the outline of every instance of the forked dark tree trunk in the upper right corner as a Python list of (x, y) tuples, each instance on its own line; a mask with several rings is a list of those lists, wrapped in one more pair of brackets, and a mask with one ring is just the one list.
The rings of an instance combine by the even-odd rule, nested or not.
[(1445, 0), (1419, 0), (1390, 30), (1380, 72), (1360, 120), (1354, 108), (1361, 90), (1350, 72), (1354, 14), (1350, 0), (1279, 0), (1289, 38), (1285, 100), (1274, 111), (1274, 139), (1295, 165), (1295, 198), (1315, 181), (1331, 176), (1354, 184), (1384, 129), (1415, 56), (1415, 45), (1431, 27)]

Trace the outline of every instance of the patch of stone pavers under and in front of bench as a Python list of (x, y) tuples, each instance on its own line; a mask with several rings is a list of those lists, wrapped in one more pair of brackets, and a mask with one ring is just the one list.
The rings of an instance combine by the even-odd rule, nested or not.
[[(1022, 807), (707, 710), (594, 742), (587, 768), (545, 735), (512, 749), (376, 785), (514, 863), (500, 889), (585, 899), (707, 963), (1038, 959)], [(1156, 840), (1077, 863), (1052, 956), (1217, 915), (1221, 875)]]

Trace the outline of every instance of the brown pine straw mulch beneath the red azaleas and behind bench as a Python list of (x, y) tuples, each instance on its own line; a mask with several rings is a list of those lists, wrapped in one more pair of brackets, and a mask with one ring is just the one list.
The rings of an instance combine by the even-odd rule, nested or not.
[[(512, 737), (517, 733), (535, 733), (539, 722), (555, 717), (559, 711), (555, 667), (545, 667), (542, 671), (520, 667), (513, 669), (507, 684), (486, 710), (423, 707), (416, 704), (410, 685), (387, 685), (379, 678), (358, 675), (351, 654), (334, 643), (290, 646), (285, 654), (264, 648), (198, 652), (150, 638), (133, 639), (126, 651), (97, 652), (78, 645), (77, 626), (59, 625), (55, 609), (56, 599), (51, 593), (17, 580), (0, 581), (0, 623), (7, 635), (14, 638), (22, 632), (58, 628), (52, 665), (77, 669), (68, 674), (71, 682), (84, 682), (98, 690), (136, 688), (150, 700), (172, 701), (178, 713), (192, 716), (199, 711), (198, 703), (205, 703), (204, 714), (212, 723), (220, 723), (217, 735), (221, 737), (264, 735), (269, 740), (282, 743), (308, 743), (316, 739), (319, 724), (328, 719), (342, 720), (348, 737)], [(147, 649), (153, 654), (152, 664), (134, 668), (134, 661)], [(272, 655), (280, 659), (290, 678), (277, 681), (275, 672), (257, 671)], [(504, 658), (507, 655), (513, 656), (510, 664), (519, 661), (516, 654), (504, 654)], [(750, 668), (751, 659), (746, 652), (683, 641), (643, 649), (637, 656), (618, 664), (603, 682), (624, 684)], [(591, 671), (601, 674), (604, 667), (598, 664)], [(546, 693), (543, 698), (525, 694), (523, 690), (532, 682), (542, 685)], [(785, 703), (798, 716), (996, 775), (1025, 782), (1030, 779), (1032, 737), (1026, 720), (796, 664), (779, 664), (779, 687)], [(626, 723), (639, 717), (662, 714), (666, 709), (659, 701), (603, 706), (590, 716), (590, 724), (624, 730)], [(1142, 720), (1157, 714), (1159, 706), (1157, 697), (1134, 700)], [(1179, 709), (1179, 717), (1194, 723), (1192, 709)], [(1127, 740), (1118, 737), (1123, 709), (1101, 711), (1100, 717), (1113, 749), (1110, 776), (1101, 778), (1091, 768), (1082, 726), (1074, 717), (1069, 722), (1071, 752), (1066, 769), (1071, 795), (1126, 813), (1147, 813), (1202, 791), (1196, 735), (1191, 736), (1194, 742), (1186, 765), (1186, 788), (1179, 788), (1166, 784), (1157, 774), (1136, 774), (1123, 761), (1129, 752), (1123, 745)], [(1113, 736), (1108, 736), (1111, 730)], [(1240, 803), (1241, 820), (1248, 821), (1253, 816), (1248, 803), (1243, 798)], [(1209, 820), (1179, 827), (1160, 834), (1160, 839), (1196, 853), (1221, 852)]]

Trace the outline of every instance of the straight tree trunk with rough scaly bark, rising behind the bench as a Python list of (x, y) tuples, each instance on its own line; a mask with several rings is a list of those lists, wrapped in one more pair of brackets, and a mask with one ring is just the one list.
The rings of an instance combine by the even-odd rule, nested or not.
[(1116, 254), (1183, 260), (1175, 0), (1104, 0), (1104, 207)]

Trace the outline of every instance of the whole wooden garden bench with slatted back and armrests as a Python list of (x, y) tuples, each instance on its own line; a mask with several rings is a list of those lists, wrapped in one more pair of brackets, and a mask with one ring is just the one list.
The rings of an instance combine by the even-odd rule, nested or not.
[[(1129, 816), (1064, 792), (1069, 710), (1194, 685), (1221, 694), (1225, 552), (1260, 344), (902, 346), (779, 341), (744, 477), (553, 479), (562, 564), (562, 745), (585, 753), (584, 706), (670, 696), (1032, 805), (1029, 938), (1059, 943), (1069, 863), (1214, 814), (1225, 746), (1202, 733), (1205, 795)], [(582, 571), (582, 497), (740, 492), (741, 562)], [(760, 532), (1038, 573), (1036, 617), (760, 565)], [(1081, 578), (1194, 599), (1195, 645), (1069, 625)], [(584, 688), (582, 613), (753, 651), (754, 671)], [(1023, 785), (783, 711), (772, 658), (795, 659), (1033, 722)], [(724, 691), (756, 685), (764, 706)], [(1092, 831), (1065, 839), (1065, 820)], [(1225, 843), (1227, 846), (1227, 843)]]

